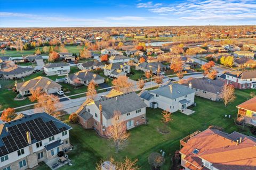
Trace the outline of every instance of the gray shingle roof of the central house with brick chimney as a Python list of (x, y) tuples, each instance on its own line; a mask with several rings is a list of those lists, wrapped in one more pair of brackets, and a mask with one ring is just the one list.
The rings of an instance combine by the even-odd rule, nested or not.
[(102, 114), (107, 119), (113, 117), (114, 111), (120, 111), (121, 114), (126, 114), (147, 107), (135, 92), (94, 101), (94, 103), (98, 108), (100, 104), (102, 105)]

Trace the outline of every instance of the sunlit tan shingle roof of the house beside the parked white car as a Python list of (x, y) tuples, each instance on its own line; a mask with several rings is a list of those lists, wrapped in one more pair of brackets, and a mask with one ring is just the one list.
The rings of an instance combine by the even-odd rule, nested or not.
[(49, 78), (45, 78), (41, 76), (28, 80), (26, 82), (17, 83), (18, 91), (36, 89), (37, 87), (41, 87), (42, 89), (52, 89), (52, 88), (58, 88), (62, 86)]

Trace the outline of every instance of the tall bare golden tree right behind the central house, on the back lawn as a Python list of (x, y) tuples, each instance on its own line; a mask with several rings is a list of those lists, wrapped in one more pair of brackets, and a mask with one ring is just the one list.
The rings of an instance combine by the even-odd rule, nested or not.
[(120, 111), (114, 111), (114, 116), (112, 118), (112, 126), (110, 126), (108, 131), (108, 138), (113, 140), (115, 144), (116, 153), (118, 153), (119, 149), (121, 149), (127, 139), (130, 136), (130, 133), (126, 131), (126, 124), (124, 121), (119, 120), (121, 116)]

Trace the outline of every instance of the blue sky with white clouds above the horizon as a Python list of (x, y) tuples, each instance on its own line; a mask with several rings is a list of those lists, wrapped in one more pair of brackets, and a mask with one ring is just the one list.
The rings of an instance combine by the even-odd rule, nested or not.
[(256, 1), (0, 1), (0, 27), (208, 24), (256, 24)]

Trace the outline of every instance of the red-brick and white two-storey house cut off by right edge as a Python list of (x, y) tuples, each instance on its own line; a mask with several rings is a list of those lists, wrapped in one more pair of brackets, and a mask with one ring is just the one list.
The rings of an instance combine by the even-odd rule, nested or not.
[(256, 70), (232, 71), (226, 73), (226, 84), (232, 84), (237, 89), (256, 88)]

